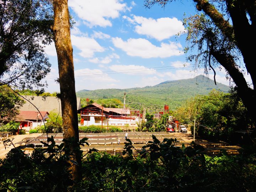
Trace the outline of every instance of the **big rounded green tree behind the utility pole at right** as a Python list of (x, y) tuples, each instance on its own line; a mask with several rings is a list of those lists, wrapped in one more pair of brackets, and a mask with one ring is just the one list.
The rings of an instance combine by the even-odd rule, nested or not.
[(216, 90), (188, 100), (175, 111), (175, 117), (184, 124), (194, 124), (196, 134), (204, 139), (234, 141), (232, 134), (247, 130), (251, 119), (237, 94), (224, 94)]

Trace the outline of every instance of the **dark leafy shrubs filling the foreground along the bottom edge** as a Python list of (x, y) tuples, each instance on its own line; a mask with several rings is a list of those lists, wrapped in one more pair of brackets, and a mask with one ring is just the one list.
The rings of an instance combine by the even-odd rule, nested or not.
[[(74, 183), (64, 143), (35, 148), (31, 156), (14, 148), (0, 159), (0, 191), (255, 191), (256, 148), (240, 155), (204, 154), (196, 143), (177, 147), (176, 139), (153, 141), (136, 150), (127, 139), (123, 155), (94, 153), (82, 161)], [(85, 143), (84, 139), (83, 143)], [(68, 142), (68, 141), (67, 141)], [(82, 141), (80, 141), (82, 144)], [(45, 156), (44, 154), (51, 155)]]

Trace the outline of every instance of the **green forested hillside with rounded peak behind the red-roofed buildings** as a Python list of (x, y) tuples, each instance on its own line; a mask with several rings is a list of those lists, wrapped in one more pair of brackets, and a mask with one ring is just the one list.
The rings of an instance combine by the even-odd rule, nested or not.
[[(148, 108), (150, 111), (162, 111), (164, 105), (169, 105), (171, 110), (175, 110), (182, 102), (196, 95), (207, 95), (212, 89), (228, 92), (229, 87), (199, 75), (193, 79), (183, 79), (175, 81), (165, 81), (155, 86), (131, 89), (98, 89), (81, 90), (76, 92), (76, 96), (90, 98), (102, 103), (104, 99), (117, 98), (123, 101), (126, 92), (126, 103), (128, 107), (139, 109)], [(99, 102), (99, 104), (101, 104)]]

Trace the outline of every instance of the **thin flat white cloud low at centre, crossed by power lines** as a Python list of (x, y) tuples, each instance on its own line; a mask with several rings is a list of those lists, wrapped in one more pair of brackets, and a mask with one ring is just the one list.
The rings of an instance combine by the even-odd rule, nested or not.
[(112, 71), (129, 75), (151, 75), (156, 73), (155, 69), (149, 69), (142, 65), (111, 65), (109, 68)]

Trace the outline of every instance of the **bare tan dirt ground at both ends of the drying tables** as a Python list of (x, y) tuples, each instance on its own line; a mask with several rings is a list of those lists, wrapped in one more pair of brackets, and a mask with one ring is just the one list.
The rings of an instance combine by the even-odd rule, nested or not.
[[(184, 140), (185, 142), (192, 142), (193, 141), (193, 135), (190, 131), (188, 133), (171, 133), (174, 134), (177, 138), (180, 138)], [(26, 137), (38, 137), (39, 135), (42, 135), (42, 133), (32, 133), (32, 134), (26, 134), (26, 135), (13, 135), (9, 137), (9, 139), (13, 139), (12, 143), (20, 142), (22, 139)], [(16, 145), (16, 147), (19, 145)], [(0, 158), (5, 158), (5, 155), (12, 149), (14, 146), (9, 146), (5, 149), (4, 143), (0, 142)]]

